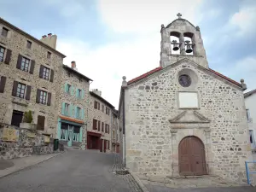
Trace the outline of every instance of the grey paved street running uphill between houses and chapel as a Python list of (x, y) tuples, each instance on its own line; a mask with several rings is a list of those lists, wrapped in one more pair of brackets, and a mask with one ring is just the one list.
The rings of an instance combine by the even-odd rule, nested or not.
[(72, 150), (0, 178), (0, 191), (133, 191), (131, 176), (114, 175), (112, 166), (113, 154)]

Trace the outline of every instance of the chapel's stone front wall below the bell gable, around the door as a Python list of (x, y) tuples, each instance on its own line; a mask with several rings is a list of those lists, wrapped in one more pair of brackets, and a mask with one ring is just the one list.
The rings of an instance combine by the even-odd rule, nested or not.
[[(183, 69), (197, 77), (188, 88), (177, 80)], [(184, 111), (178, 108), (180, 90), (198, 93), (200, 108), (194, 110), (210, 119), (208, 127), (172, 127), (169, 119)], [(241, 181), (244, 161), (251, 160), (241, 89), (186, 61), (125, 90), (125, 157), (133, 172), (178, 175), (178, 143), (186, 136), (199, 137), (204, 143), (209, 174)]]

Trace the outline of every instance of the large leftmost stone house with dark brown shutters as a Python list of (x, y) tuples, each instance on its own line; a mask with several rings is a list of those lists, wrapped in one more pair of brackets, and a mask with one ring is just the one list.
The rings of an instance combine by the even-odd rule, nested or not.
[(41, 40), (0, 18), (0, 123), (20, 126), (31, 110), (37, 129), (55, 135), (59, 77), (65, 55), (56, 36)]

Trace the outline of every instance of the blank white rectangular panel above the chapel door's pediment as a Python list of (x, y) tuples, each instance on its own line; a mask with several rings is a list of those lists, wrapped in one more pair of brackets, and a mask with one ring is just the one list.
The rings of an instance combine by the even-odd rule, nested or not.
[(179, 108), (199, 108), (196, 92), (179, 92), (178, 103)]

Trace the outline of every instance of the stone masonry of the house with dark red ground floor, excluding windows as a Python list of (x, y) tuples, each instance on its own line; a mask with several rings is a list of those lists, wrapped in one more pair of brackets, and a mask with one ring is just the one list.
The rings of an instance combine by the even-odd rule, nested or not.
[[(109, 149), (107, 148), (106, 152), (110, 153), (112, 151), (112, 121), (111, 121), (111, 117), (112, 117), (112, 109), (104, 102), (102, 102), (101, 100), (97, 99), (95, 96), (89, 96), (90, 98), (90, 108), (89, 108), (89, 112), (88, 112), (88, 125), (87, 125), (87, 131), (91, 131), (91, 132), (96, 132), (96, 133), (101, 133), (102, 134), (102, 139), (104, 140), (108, 140), (109, 141)], [(94, 108), (94, 102), (100, 102), (101, 106), (100, 106), (100, 110)], [(102, 112), (102, 104), (104, 105), (104, 112)], [(110, 113), (109, 115), (106, 114), (106, 106), (110, 109)], [(101, 121), (101, 131), (97, 131), (97, 130), (93, 130), (92, 129), (92, 121), (93, 119), (97, 119)], [(105, 124), (109, 125), (109, 133), (105, 132), (105, 127), (104, 127), (104, 131), (102, 131), (102, 122), (104, 122)]]

